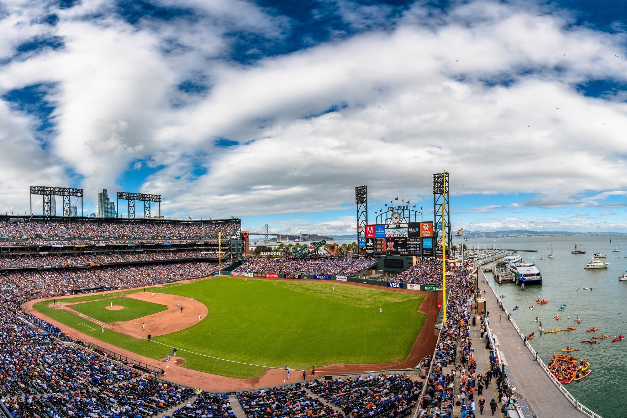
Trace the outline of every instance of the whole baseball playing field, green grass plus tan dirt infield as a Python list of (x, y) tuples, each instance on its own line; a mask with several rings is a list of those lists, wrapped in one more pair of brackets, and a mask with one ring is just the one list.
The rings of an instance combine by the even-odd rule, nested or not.
[(54, 308), (51, 300), (41, 301), (33, 309), (95, 343), (156, 360), (176, 347), (183, 367), (251, 378), (286, 365), (402, 362), (423, 328), (423, 299), (337, 281), (214, 277), (124, 297), (112, 292), (58, 299)]

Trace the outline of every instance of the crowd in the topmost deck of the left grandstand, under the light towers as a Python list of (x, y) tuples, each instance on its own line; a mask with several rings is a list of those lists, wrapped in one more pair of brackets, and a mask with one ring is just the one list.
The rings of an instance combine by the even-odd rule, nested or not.
[(61, 241), (64, 244), (115, 244), (142, 238), (154, 243), (186, 238), (218, 238), (219, 232), (225, 237), (233, 235), (240, 225), (235, 222), (120, 222), (100, 219), (26, 221), (0, 220), (0, 246), (46, 245)]

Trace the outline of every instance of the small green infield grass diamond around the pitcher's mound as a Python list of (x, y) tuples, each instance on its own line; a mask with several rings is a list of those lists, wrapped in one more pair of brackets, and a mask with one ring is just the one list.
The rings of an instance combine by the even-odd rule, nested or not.
[[(124, 309), (119, 309), (117, 311), (107, 309), (107, 306), (110, 306), (111, 304), (124, 306)], [(72, 309), (97, 321), (110, 324), (117, 321), (130, 321), (131, 319), (141, 318), (142, 316), (165, 311), (167, 306), (158, 303), (140, 301), (138, 299), (131, 299), (130, 297), (112, 297), (110, 299), (102, 299), (100, 301), (77, 303), (72, 307)]]

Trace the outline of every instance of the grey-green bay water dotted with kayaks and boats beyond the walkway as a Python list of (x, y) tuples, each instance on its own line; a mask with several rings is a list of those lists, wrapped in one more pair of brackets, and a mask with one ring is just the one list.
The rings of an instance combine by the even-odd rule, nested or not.
[[(603, 236), (577, 237), (577, 240), (584, 249), (608, 254), (606, 259), (610, 261), (608, 268), (584, 269), (585, 257), (571, 254), (573, 249), (572, 237), (517, 238), (515, 243), (517, 246), (538, 250), (535, 258), (533, 256), (527, 258), (534, 260), (542, 272), (542, 286), (522, 289), (521, 286), (515, 286), (513, 282), (498, 283), (492, 272), (488, 270), (489, 265), (484, 267), (484, 270), (487, 271), (485, 276), (494, 287), (495, 292), (499, 296), (505, 296), (503, 306), (510, 313), (520, 331), (524, 335), (536, 333), (535, 338), (530, 341), (530, 345), (539, 352), (545, 365), (549, 362), (552, 354), (566, 350), (567, 346), (576, 349), (576, 353), (581, 358), (585, 358), (591, 363), (590, 368), (593, 372), (589, 376), (564, 386), (572, 397), (594, 410), (601, 417), (625, 416), (621, 405), (607, 401), (608, 399), (620, 399), (623, 396), (621, 388), (627, 384), (627, 377), (621, 372), (621, 368), (616, 367), (616, 365), (623, 363), (627, 346), (624, 346), (622, 340), (611, 342), (614, 338), (625, 335), (627, 330), (623, 318), (616, 314), (618, 306), (624, 306), (624, 299), (627, 297), (627, 282), (617, 280), (618, 277), (627, 275), (625, 274), (627, 259), (618, 257), (619, 254), (612, 252), (614, 248), (618, 248), (616, 237), (612, 237), (612, 243), (609, 243), (608, 237)], [(514, 238), (497, 239), (498, 246), (508, 249), (512, 247), (513, 242)], [(469, 245), (473, 244), (493, 245), (493, 240), (471, 240)], [(548, 254), (553, 254), (554, 258), (539, 260), (539, 257)], [(577, 291), (579, 287), (591, 287), (593, 291), (584, 291), (583, 289)], [(489, 289), (487, 292), (487, 296), (490, 296)], [(489, 299), (490, 297), (487, 297), (488, 303), (490, 303)], [(538, 303), (537, 301), (545, 301), (545, 303)], [(565, 309), (557, 312), (557, 309), (562, 305), (566, 305), (564, 306)], [(520, 306), (520, 309), (513, 311), (515, 306)], [(531, 306), (534, 306), (534, 309), (530, 309)], [(498, 314), (496, 323), (493, 320), (495, 312), (503, 316), (502, 323), (498, 323)], [(556, 320), (554, 317), (557, 313), (560, 314), (560, 319)], [(490, 317), (492, 318), (492, 326), (499, 326), (506, 323), (507, 314), (503, 314), (500, 309), (498, 311), (490, 310)], [(534, 322), (536, 317), (539, 318), (539, 321)], [(577, 318), (581, 323), (577, 323)], [(542, 323), (544, 330), (553, 330), (554, 328), (560, 330), (571, 327), (576, 329), (557, 333), (542, 333), (538, 330), (539, 323)], [(594, 328), (597, 330), (586, 331)], [(595, 333), (593, 334), (593, 332)], [(601, 335), (610, 335), (612, 338), (593, 338)], [(580, 343), (581, 340), (601, 341), (601, 343)], [(500, 343), (502, 344), (502, 342)], [(517, 346), (524, 348), (522, 345)], [(500, 349), (503, 350), (503, 348)], [(517, 354), (520, 355), (520, 353)], [(512, 370), (512, 372), (514, 371)], [(599, 396), (599, 394), (604, 395)], [(527, 398), (529, 399), (529, 397)], [(537, 413), (537, 410), (535, 412)]]

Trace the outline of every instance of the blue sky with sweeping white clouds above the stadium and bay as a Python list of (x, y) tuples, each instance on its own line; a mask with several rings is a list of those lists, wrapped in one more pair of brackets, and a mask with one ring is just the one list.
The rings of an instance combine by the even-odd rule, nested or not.
[[(0, 1), (0, 210), (29, 185), (349, 234), (401, 196), (454, 226), (627, 232), (623, 2)], [(35, 202), (35, 208), (40, 203)], [(124, 212), (124, 211), (123, 211)]]

